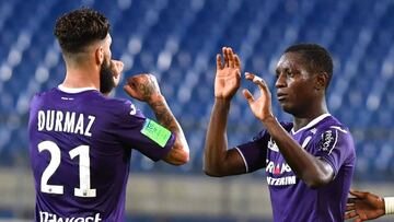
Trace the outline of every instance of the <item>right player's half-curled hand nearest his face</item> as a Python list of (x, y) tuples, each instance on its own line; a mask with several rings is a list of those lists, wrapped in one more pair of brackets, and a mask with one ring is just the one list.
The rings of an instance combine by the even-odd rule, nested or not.
[(274, 117), (271, 108), (271, 94), (266, 82), (252, 73), (245, 73), (246, 80), (254, 82), (260, 90), (262, 95), (258, 98), (254, 98), (248, 90), (243, 90), (243, 94), (250, 104), (252, 113), (262, 121), (268, 117)]

